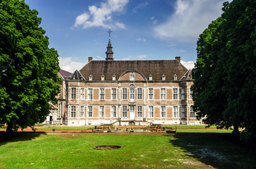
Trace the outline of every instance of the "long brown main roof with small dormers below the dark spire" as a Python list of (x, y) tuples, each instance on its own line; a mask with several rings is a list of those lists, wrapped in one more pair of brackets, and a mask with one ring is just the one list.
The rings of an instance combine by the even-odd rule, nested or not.
[(86, 80), (93, 75), (93, 80), (100, 80), (105, 76), (105, 80), (112, 80), (115, 75), (118, 78), (127, 70), (135, 70), (149, 80), (161, 80), (165, 75), (165, 80), (173, 80), (173, 75), (178, 76), (178, 80), (187, 73), (187, 68), (177, 60), (150, 60), (150, 61), (90, 61), (79, 71)]

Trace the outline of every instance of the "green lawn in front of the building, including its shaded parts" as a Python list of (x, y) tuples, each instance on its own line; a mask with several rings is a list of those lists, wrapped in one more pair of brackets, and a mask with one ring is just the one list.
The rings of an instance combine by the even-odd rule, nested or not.
[[(231, 134), (16, 134), (0, 135), (0, 168), (256, 168)], [(103, 144), (124, 148), (93, 149)]]

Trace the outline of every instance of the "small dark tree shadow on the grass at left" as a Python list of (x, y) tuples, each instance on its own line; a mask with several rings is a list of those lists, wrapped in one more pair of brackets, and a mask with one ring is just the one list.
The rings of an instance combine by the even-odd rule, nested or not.
[(11, 134), (0, 132), (0, 146), (8, 142), (29, 141), (40, 137), (41, 134), (45, 134), (45, 132), (13, 132)]

